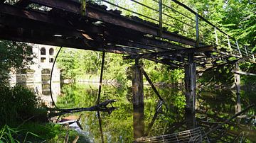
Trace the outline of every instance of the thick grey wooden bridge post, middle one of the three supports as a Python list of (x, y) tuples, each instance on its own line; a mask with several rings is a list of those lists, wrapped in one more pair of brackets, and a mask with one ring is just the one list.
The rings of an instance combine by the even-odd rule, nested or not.
[(196, 63), (193, 62), (193, 53), (188, 54), (188, 63), (185, 66), (186, 110), (194, 113), (196, 109)]

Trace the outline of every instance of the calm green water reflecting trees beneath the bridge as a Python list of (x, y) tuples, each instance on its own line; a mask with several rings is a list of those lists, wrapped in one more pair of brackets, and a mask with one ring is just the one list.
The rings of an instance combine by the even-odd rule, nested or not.
[[(133, 122), (134, 117), (140, 116), (134, 113), (132, 105), (132, 88), (117, 88), (114, 86), (102, 86), (100, 101), (116, 99), (113, 103), (114, 110), (111, 114), (100, 113), (102, 118), (102, 131), (105, 142), (132, 142), (134, 135), (143, 133), (149, 137), (180, 132), (191, 127), (191, 118), (185, 114), (185, 96), (183, 90), (178, 88), (158, 88), (164, 98), (165, 105), (156, 114), (158, 97), (150, 87), (144, 87), (144, 122)], [(90, 107), (97, 101), (97, 84), (65, 84), (61, 87), (61, 95), (58, 96), (57, 105), (61, 108)], [(197, 93), (196, 126), (204, 127), (206, 132), (214, 127), (216, 122), (230, 118), (235, 114), (237, 97), (232, 91), (201, 91)], [(241, 108), (251, 103), (256, 103), (254, 91), (242, 91)], [(81, 123), (83, 130), (92, 142), (101, 142), (101, 134), (97, 112), (83, 112)], [(256, 115), (255, 108), (250, 109), (245, 115)], [(155, 118), (154, 118), (155, 116)], [(152, 120), (154, 122), (152, 122)], [(233, 120), (223, 129), (213, 132), (208, 136), (210, 142), (256, 142), (256, 124), (246, 124), (245, 118)], [(242, 122), (240, 124), (238, 122)], [(139, 125), (143, 124), (144, 125)], [(134, 126), (135, 125), (135, 126)], [(144, 127), (143, 127), (144, 126)], [(152, 127), (150, 127), (152, 126)], [(144, 128), (144, 129), (142, 129)], [(223, 133), (225, 132), (225, 133)], [(218, 139), (219, 138), (219, 139)]]

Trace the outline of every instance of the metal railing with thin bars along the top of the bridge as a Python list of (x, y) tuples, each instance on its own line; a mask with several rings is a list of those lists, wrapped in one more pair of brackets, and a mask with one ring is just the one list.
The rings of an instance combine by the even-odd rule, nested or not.
[(125, 16), (140, 18), (159, 25), (159, 37), (163, 31), (183, 35), (205, 45), (218, 45), (227, 55), (253, 58), (252, 48), (243, 45), (203, 16), (176, 0), (96, 0), (97, 4), (122, 11)]

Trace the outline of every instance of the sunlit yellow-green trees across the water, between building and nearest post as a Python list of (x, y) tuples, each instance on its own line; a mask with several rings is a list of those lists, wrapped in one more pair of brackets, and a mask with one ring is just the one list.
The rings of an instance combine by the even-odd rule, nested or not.
[[(63, 49), (57, 63), (63, 79), (82, 79), (100, 76), (102, 53), (85, 50)], [(121, 55), (107, 53), (103, 79), (116, 79), (119, 83), (127, 82), (126, 69), (129, 62)]]

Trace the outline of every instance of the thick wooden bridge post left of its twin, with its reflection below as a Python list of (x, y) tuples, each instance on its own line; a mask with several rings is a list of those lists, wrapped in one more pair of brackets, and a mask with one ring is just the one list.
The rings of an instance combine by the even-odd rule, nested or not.
[(144, 136), (144, 93), (142, 66), (139, 59), (135, 59), (132, 67), (132, 103), (134, 109), (134, 139)]

